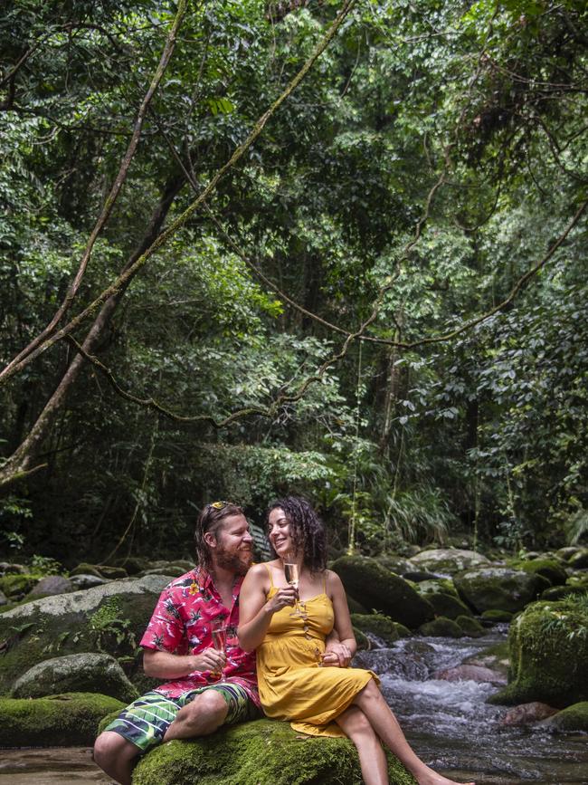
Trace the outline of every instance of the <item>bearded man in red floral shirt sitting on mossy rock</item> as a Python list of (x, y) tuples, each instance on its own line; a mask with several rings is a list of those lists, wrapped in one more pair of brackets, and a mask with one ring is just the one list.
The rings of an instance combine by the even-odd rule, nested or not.
[[(130, 785), (138, 756), (156, 744), (261, 717), (255, 653), (236, 637), (239, 591), (253, 556), (241, 507), (207, 504), (194, 541), (198, 566), (164, 589), (141, 639), (146, 674), (170, 681), (130, 704), (94, 746), (94, 760), (120, 785)], [(226, 623), (226, 655), (213, 648), (215, 620)]]

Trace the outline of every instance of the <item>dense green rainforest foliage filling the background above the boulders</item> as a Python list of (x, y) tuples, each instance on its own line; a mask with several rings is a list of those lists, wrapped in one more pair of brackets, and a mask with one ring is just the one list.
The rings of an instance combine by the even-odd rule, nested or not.
[(7, 3), (4, 557), (179, 555), (287, 491), (341, 550), (585, 537), (587, 20)]

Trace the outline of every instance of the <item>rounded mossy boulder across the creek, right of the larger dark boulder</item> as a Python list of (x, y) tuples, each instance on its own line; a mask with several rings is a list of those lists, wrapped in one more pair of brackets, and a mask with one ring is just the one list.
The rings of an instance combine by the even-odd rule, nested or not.
[(478, 613), (498, 609), (516, 613), (549, 584), (539, 575), (508, 567), (467, 570), (453, 579), (460, 598)]

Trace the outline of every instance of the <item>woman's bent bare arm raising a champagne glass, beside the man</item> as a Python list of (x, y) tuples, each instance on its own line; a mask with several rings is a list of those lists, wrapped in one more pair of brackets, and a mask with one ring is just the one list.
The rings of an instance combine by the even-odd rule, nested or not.
[(278, 589), (272, 598), (267, 595), (270, 590), (268, 570), (263, 564), (256, 564), (245, 576), (239, 595), (239, 645), (245, 651), (257, 648), (270, 627), (271, 617), (280, 608), (293, 606), (296, 589), (287, 586)]

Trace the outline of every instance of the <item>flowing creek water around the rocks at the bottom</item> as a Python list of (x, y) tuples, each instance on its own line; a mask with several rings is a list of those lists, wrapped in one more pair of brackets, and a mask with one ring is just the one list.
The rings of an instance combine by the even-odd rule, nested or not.
[[(588, 736), (503, 725), (506, 708), (486, 704), (496, 687), (432, 678), (505, 639), (506, 627), (478, 639), (406, 638), (361, 653), (356, 665), (380, 676), (415, 751), (445, 776), (477, 785), (588, 785)], [(0, 785), (111, 782), (90, 753), (80, 747), (0, 750)]]

